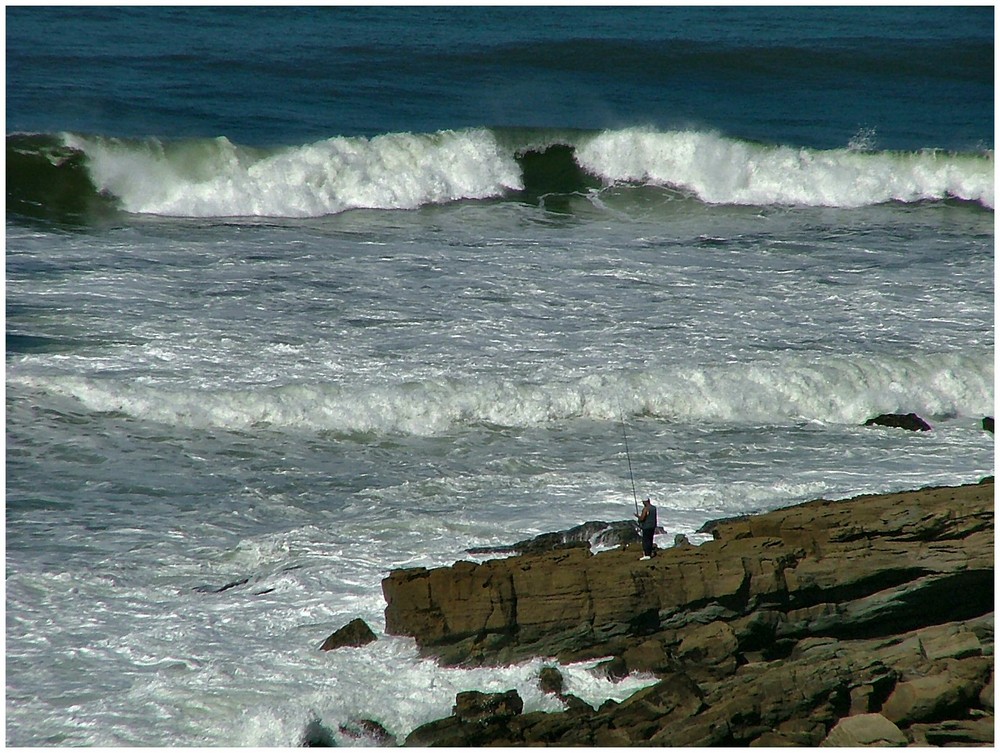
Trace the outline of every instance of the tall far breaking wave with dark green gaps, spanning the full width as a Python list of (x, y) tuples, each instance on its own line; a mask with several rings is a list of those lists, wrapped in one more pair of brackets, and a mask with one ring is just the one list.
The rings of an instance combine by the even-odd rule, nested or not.
[(654, 185), (709, 204), (858, 207), (960, 200), (993, 209), (992, 152), (760, 144), (706, 131), (473, 128), (336, 137), (262, 149), (63, 133), (7, 137), (7, 210), (85, 220), (320, 217), (459, 200)]

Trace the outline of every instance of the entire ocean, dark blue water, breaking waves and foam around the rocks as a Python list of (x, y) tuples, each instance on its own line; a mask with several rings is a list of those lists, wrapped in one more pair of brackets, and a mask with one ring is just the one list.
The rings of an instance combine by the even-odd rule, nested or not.
[(10, 746), (557, 710), (543, 659), (385, 635), (382, 578), (629, 519), (633, 482), (669, 547), (993, 472), (992, 7), (6, 29)]

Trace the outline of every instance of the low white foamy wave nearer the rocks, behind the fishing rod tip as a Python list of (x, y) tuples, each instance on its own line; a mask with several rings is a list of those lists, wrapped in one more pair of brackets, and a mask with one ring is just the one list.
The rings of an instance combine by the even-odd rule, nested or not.
[(992, 415), (994, 368), (980, 354), (786, 357), (551, 382), (439, 379), (389, 385), (194, 390), (79, 376), (12, 377), (118, 411), (194, 427), (430, 435), (461, 424), (529, 427), (625, 411), (673, 421), (857, 424), (879, 413)]

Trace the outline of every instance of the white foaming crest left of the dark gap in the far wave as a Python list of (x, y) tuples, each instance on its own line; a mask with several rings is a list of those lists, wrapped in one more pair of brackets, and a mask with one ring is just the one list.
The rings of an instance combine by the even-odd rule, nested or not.
[(95, 187), (125, 211), (186, 217), (317, 217), (415, 209), (520, 188), (489, 131), (332, 138), (265, 152), (226, 138), (166, 144), (67, 134)]

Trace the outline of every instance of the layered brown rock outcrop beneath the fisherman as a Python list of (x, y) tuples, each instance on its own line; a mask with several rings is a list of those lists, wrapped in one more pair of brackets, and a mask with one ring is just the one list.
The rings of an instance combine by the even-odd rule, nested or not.
[(581, 543), (392, 572), (387, 632), (443, 663), (610, 656), (609, 676), (658, 678), (596, 710), (455, 714), (407, 744), (992, 742), (992, 482), (817, 500), (711, 531), (649, 561)]

